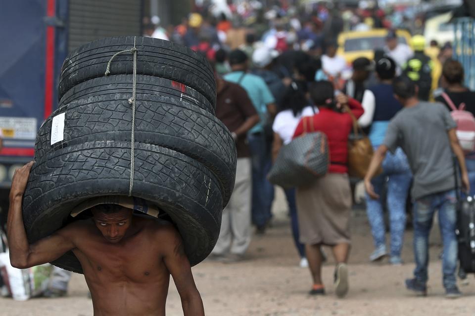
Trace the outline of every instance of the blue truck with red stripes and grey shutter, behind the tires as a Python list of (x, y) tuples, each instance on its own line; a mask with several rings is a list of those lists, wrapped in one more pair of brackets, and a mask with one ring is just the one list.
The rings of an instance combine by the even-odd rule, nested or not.
[(41, 124), (57, 108), (69, 51), (111, 36), (142, 35), (144, 0), (2, 1), (0, 10), (0, 227), (16, 168), (34, 159)]

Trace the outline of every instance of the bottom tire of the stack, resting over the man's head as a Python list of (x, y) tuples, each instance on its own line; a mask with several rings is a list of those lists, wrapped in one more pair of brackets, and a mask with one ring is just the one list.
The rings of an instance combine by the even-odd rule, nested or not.
[[(36, 161), (23, 197), (28, 240), (35, 242), (71, 221), (70, 211), (91, 197), (127, 196), (130, 142), (100, 141), (57, 150)], [(135, 144), (132, 196), (157, 204), (175, 223), (191, 265), (211, 252), (219, 236), (222, 199), (216, 177), (175, 151)], [(158, 241), (157, 241), (158, 242)], [(72, 253), (54, 265), (82, 273)]]

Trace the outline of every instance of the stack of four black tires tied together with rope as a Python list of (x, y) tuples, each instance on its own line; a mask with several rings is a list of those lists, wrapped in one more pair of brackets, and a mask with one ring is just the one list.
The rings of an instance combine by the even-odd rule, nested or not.
[[(133, 54), (118, 54), (110, 74), (104, 74), (111, 57), (134, 47), (134, 41), (132, 144)], [(236, 146), (214, 115), (216, 83), (206, 59), (166, 40), (96, 40), (66, 58), (58, 96), (58, 109), (38, 132), (23, 198), (30, 242), (69, 223), (71, 209), (89, 198), (129, 196), (134, 146), (132, 196), (169, 216), (191, 265), (205, 259), (219, 236), (236, 176)], [(53, 264), (82, 273), (71, 252)]]

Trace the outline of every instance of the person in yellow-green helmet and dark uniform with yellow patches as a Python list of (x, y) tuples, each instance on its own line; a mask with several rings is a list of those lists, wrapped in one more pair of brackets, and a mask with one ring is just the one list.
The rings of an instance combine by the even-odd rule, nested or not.
[(428, 101), (432, 84), (432, 70), (434, 63), (432, 59), (424, 53), (426, 39), (422, 35), (415, 35), (412, 38), (414, 55), (402, 66), (403, 74), (416, 82), (419, 87), (419, 100)]

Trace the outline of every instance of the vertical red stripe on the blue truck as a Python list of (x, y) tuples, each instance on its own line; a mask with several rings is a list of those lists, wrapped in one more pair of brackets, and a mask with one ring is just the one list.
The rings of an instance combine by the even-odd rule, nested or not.
[[(46, 14), (53, 17), (56, 11), (56, 1), (47, 0)], [(54, 91), (54, 26), (46, 28), (46, 71), (45, 71), (45, 118), (53, 111)]]

